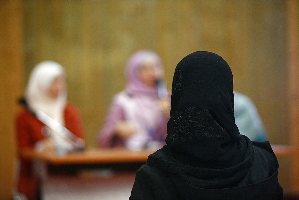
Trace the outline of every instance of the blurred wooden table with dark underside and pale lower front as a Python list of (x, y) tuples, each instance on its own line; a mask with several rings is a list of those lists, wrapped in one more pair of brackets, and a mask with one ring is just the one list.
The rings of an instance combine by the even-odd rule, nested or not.
[(43, 199), (129, 199), (136, 170), (153, 152), (89, 148), (59, 156), (24, 149), (21, 156), (48, 164), (41, 184)]

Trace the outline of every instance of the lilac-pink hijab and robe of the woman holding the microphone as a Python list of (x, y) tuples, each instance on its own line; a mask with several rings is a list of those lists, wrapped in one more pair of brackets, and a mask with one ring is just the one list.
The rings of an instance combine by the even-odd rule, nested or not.
[[(168, 119), (162, 110), (168, 108), (162, 107), (157, 88), (144, 84), (138, 77), (139, 67), (147, 61), (155, 64), (157, 80), (164, 77), (161, 59), (155, 52), (141, 50), (129, 58), (126, 66), (126, 89), (113, 98), (106, 121), (97, 137), (100, 146), (123, 145), (132, 150), (140, 150), (150, 141), (164, 143)], [(120, 121), (126, 121), (137, 130), (126, 141), (115, 136), (114, 128)]]

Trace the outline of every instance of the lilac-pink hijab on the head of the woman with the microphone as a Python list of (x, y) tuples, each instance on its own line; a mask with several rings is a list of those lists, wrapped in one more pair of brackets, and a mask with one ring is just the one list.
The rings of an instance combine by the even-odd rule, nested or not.
[(138, 77), (138, 70), (145, 62), (151, 61), (156, 67), (156, 78), (164, 78), (162, 60), (151, 50), (139, 50), (128, 60), (126, 65), (126, 91), (131, 95), (157, 95), (157, 88), (144, 84)]

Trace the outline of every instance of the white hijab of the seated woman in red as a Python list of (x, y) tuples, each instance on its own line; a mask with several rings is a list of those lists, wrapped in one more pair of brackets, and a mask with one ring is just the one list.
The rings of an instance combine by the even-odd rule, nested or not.
[(32, 70), (25, 91), (25, 98), (30, 110), (41, 110), (62, 125), (64, 122), (64, 109), (66, 105), (66, 90), (61, 91), (57, 98), (49, 94), (49, 89), (57, 76), (64, 75), (63, 66), (54, 61), (43, 61)]

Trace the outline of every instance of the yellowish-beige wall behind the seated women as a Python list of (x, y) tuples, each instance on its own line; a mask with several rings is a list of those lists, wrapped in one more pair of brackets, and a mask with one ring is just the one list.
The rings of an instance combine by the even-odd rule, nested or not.
[[(130, 54), (144, 48), (160, 54), (170, 89), (181, 58), (193, 51), (213, 51), (231, 66), (234, 89), (256, 103), (270, 142), (289, 144), (285, 3), (20, 1), (24, 23), (15, 29), (19, 28), (23, 37), (24, 65), (17, 69), (23, 70), (24, 76), (7, 65), (1, 66), (1, 72), (6, 70), (1, 74), (13, 71), (10, 73), (16, 73), (17, 83), (22, 83), (14, 87), (24, 88), (39, 61), (55, 60), (65, 66), (69, 100), (81, 111), (89, 146), (96, 146), (96, 134), (110, 100), (124, 87), (123, 67)], [(13, 54), (9, 58), (7, 63), (17, 62)], [(21, 96), (19, 92), (11, 95), (4, 95), (1, 101), (4, 98), (14, 103)], [(1, 104), (1, 112), (4, 107)], [(280, 165), (286, 188), (288, 162), (282, 160)]]

